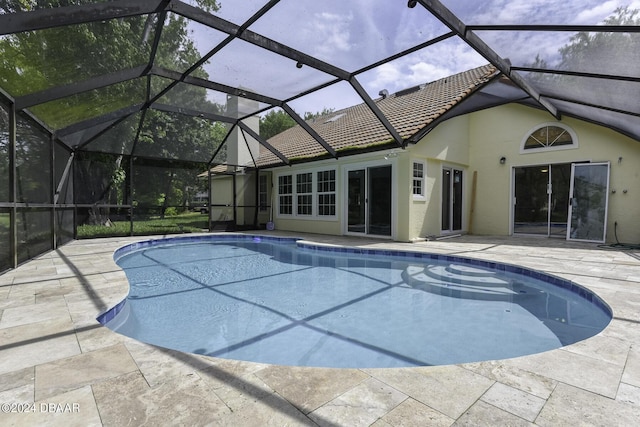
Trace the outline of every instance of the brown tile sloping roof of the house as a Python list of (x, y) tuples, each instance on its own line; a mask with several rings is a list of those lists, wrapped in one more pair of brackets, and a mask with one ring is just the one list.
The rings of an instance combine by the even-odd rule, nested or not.
[[(499, 74), (493, 65), (484, 65), (459, 74), (404, 89), (374, 102), (406, 142), (471, 96)], [(307, 124), (337, 153), (362, 152), (398, 146), (366, 104), (358, 104), (307, 121)], [(300, 125), (268, 140), (293, 162), (324, 158), (327, 151)], [(272, 167), (282, 161), (264, 146), (256, 166)]]

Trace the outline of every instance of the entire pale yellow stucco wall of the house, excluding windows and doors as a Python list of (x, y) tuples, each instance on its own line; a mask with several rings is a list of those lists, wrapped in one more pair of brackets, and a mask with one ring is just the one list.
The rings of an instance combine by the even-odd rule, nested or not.
[[(521, 153), (523, 138), (542, 124), (555, 119), (542, 110), (520, 105), (482, 110), (448, 120), (427, 134), (418, 144), (406, 150), (396, 149), (392, 165), (395, 180), (393, 207), (393, 237), (410, 241), (441, 233), (441, 188), (443, 167), (463, 171), (464, 213), (462, 232), (480, 235), (509, 235), (512, 222), (513, 168), (579, 161), (611, 162), (607, 240), (613, 241), (613, 224), (618, 223), (618, 237), (624, 242), (640, 242), (640, 142), (607, 128), (572, 118), (563, 118), (564, 125), (576, 134), (578, 148)], [(274, 190), (279, 173), (295, 174), (302, 170), (336, 169), (335, 220), (278, 217), (276, 228), (340, 235), (344, 233), (345, 170), (354, 165), (380, 164), (382, 153), (370, 153), (323, 160), (292, 167), (273, 169)], [(506, 158), (500, 164), (501, 157)], [(618, 159), (622, 158), (619, 162)], [(412, 194), (413, 161), (425, 163), (424, 199)], [(477, 174), (475, 202), (472, 206), (472, 185)], [(624, 190), (627, 190), (624, 192)]]

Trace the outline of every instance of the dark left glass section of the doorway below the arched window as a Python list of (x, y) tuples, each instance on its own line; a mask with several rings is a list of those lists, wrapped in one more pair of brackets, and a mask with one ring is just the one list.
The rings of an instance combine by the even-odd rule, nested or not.
[(571, 164), (519, 167), (514, 176), (513, 232), (564, 238)]

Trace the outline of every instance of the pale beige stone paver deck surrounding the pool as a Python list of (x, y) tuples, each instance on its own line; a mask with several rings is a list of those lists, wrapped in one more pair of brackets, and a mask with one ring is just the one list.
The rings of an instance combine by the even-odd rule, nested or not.
[[(159, 424), (631, 425), (640, 417), (640, 253), (545, 239), (466, 236), (408, 244), (276, 235), (536, 263), (595, 291), (614, 318), (583, 342), (507, 360), (362, 370), (230, 363), (149, 346), (99, 325), (100, 307), (128, 292), (113, 253), (141, 237), (75, 241), (0, 276), (1, 396), (81, 402), (81, 413), (56, 419), (86, 425), (131, 417)], [(51, 421), (45, 413), (6, 415), (21, 425)]]

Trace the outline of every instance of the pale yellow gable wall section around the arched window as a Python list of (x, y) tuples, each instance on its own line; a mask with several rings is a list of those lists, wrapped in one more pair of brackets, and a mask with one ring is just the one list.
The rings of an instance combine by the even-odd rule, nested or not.
[[(469, 171), (478, 173), (473, 233), (509, 234), (514, 167), (609, 161), (610, 188), (616, 193), (609, 194), (607, 240), (614, 239), (617, 221), (621, 240), (640, 242), (640, 142), (601, 126), (563, 118), (561, 122), (575, 132), (578, 148), (522, 154), (523, 138), (535, 127), (555, 121), (548, 113), (507, 105), (473, 113), (469, 120)], [(507, 159), (504, 165), (499, 163), (502, 156)]]

